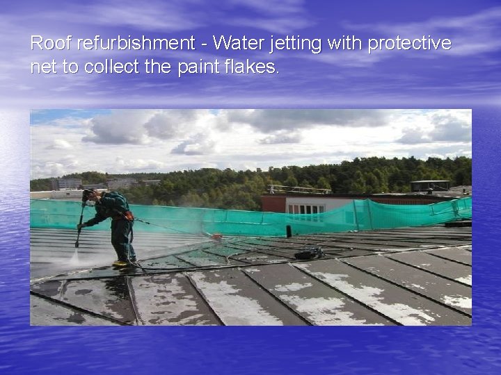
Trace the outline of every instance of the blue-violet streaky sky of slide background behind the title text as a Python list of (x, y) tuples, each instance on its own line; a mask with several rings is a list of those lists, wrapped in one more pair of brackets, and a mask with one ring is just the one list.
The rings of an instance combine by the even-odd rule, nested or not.
[[(441, 108), (498, 103), (501, 6), (495, 1), (54, 1), (7, 3), (0, 15), (0, 87), (9, 106), (33, 108)], [(31, 51), (44, 38), (189, 38), (196, 51)], [(449, 51), (216, 51), (212, 35), (269, 39), (449, 38)], [(199, 43), (207, 42), (207, 47)], [(326, 47), (326, 43), (324, 43)], [(31, 62), (115, 58), (271, 61), (278, 74), (29, 74)], [(489, 79), (486, 79), (489, 77)], [(440, 97), (440, 103), (436, 99)], [(467, 105), (468, 104), (468, 105)]]

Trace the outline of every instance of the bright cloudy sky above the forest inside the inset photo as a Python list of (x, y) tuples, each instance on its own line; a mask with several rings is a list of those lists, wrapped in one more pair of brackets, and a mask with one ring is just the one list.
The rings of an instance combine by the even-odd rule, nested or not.
[(471, 157), (471, 110), (33, 110), (31, 178)]

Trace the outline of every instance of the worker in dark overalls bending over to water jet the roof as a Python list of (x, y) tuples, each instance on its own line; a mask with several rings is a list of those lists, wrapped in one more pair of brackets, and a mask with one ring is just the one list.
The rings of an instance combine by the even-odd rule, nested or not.
[(77, 229), (93, 226), (111, 217), (111, 244), (115, 249), (118, 259), (113, 263), (115, 267), (127, 267), (136, 262), (136, 253), (132, 247), (132, 226), (134, 215), (129, 210), (127, 199), (118, 192), (99, 192), (95, 189), (84, 190), (82, 201), (95, 202), (95, 217)]

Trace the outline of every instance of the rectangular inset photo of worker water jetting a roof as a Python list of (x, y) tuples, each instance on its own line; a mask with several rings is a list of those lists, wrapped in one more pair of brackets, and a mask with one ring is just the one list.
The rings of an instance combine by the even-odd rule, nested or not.
[(472, 323), (472, 110), (30, 126), (32, 325)]

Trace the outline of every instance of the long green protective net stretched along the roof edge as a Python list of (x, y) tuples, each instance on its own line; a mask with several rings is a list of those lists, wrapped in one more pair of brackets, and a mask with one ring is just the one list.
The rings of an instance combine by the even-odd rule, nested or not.
[[(283, 236), (290, 226), (293, 234), (427, 226), (471, 219), (471, 197), (429, 205), (392, 205), (354, 200), (346, 206), (319, 214), (263, 213), (260, 211), (217, 210), (131, 205), (134, 231), (164, 233), (221, 233), (223, 235)], [(32, 228), (75, 228), (81, 203), (75, 201), (31, 200)], [(84, 208), (84, 222), (95, 215)], [(141, 221), (143, 222), (141, 222)], [(150, 224), (146, 224), (148, 222)], [(105, 230), (110, 220), (88, 229)]]

